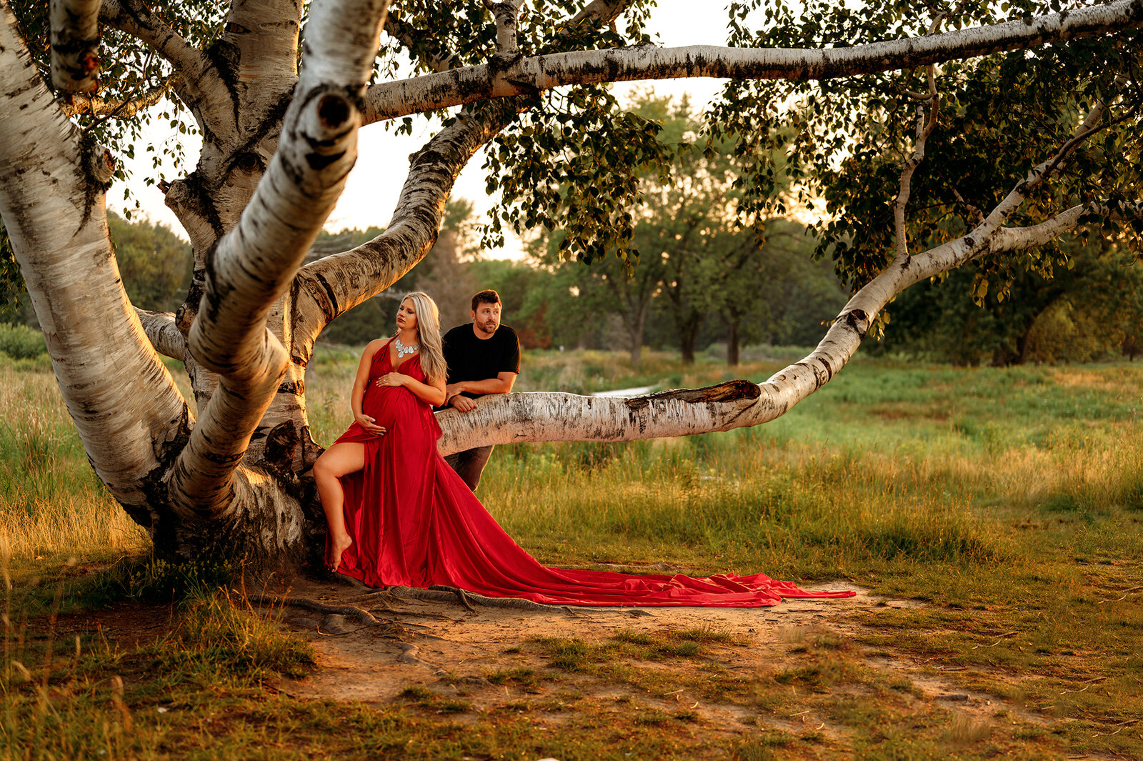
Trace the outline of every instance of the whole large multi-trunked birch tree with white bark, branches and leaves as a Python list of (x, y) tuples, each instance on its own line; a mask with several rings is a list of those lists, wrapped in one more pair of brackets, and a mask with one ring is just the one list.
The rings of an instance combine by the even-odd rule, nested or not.
[[(310, 435), (304, 386), (314, 341), (416, 266), (455, 178), (481, 152), (503, 198), (497, 224), (559, 226), (570, 256), (625, 255), (639, 168), (669, 158), (669, 146), (657, 125), (616, 107), (606, 82), (727, 79), (711, 130), (734, 133), (742, 158), (758, 159), (745, 182), (759, 208), (772, 202), (764, 157), (791, 123), (801, 137), (789, 150), (808, 151), (818, 168), (837, 171), (846, 159), (892, 176), (890, 197), (831, 201), (840, 205), (831, 251), (857, 290), (817, 349), (765, 383), (637, 399), (510, 394), (469, 415), (442, 414), (443, 452), (766, 423), (839, 371), (909, 285), (969, 261), (1016, 261), (1084, 223), (1138, 213), (1143, 0), (1021, 0), (1007, 18), (988, 3), (810, 2), (796, 15), (776, 1), (736, 1), (735, 47), (684, 48), (645, 35), (653, 5), (0, 0), (0, 216), (91, 466), (160, 554), (218, 552), (272, 568), (320, 546), (309, 471), (323, 442)], [(742, 19), (759, 15), (762, 31), (746, 30)], [(1025, 59), (1042, 70), (990, 73)], [(941, 114), (960, 113), (944, 88), (970, 105), (974, 88), (989, 83), (998, 102), (1007, 95), (1042, 119), (1052, 113), (1054, 128), (1026, 155), (994, 152), (989, 141), (1001, 127), (934, 137)], [(1058, 97), (1036, 104), (1021, 87)], [(848, 88), (879, 90), (880, 105), (814, 102)], [(783, 93), (797, 97), (775, 99)], [(139, 119), (169, 111), (168, 97), (203, 139), (193, 170), (162, 185), (192, 245), (192, 285), (176, 312), (154, 313), (123, 291), (104, 199), (115, 151), (130, 150)], [(778, 119), (782, 103), (800, 107)], [(860, 103), (884, 121), (876, 151), (853, 118)], [(378, 221), (384, 232), (304, 263), (353, 167), (359, 131), (383, 141), (379, 125), (408, 128), (423, 114), (441, 126), (410, 157), (397, 208)], [(998, 167), (985, 173), (991, 184), (974, 179), (972, 195), (946, 177), (945, 194), (968, 209), (965, 227), (917, 245), (933, 238), (932, 211), (918, 216), (911, 201), (918, 167), (964, 168), (933, 155), (930, 143), (954, 151), (977, 137), (976, 155)], [(881, 216), (892, 209), (892, 222), (862, 218), (862, 203)], [(160, 354), (185, 363), (193, 404)]]

